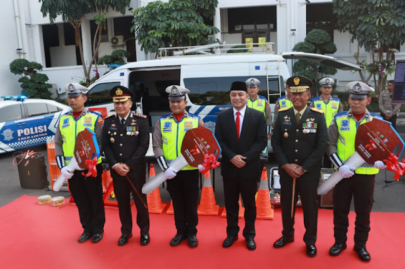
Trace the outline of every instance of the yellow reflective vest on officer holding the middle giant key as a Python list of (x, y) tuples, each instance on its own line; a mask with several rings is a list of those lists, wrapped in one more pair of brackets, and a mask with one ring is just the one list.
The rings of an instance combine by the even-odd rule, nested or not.
[[(182, 118), (180, 122), (176, 122), (174, 118), (169, 118), (170, 115), (171, 113), (166, 114), (159, 119), (163, 153), (168, 165), (181, 155), (181, 144), (186, 132), (197, 128), (199, 125), (199, 117), (194, 114), (188, 113), (188, 118)], [(182, 170), (195, 169), (198, 168), (187, 165)]]

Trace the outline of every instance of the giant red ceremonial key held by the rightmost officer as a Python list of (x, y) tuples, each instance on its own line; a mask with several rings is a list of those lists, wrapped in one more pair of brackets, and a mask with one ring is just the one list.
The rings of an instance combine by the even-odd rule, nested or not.
[[(344, 164), (356, 169), (365, 162), (374, 165), (377, 160), (386, 160), (391, 153), (399, 157), (404, 146), (391, 123), (376, 118), (358, 127), (354, 143), (356, 151)], [(335, 171), (318, 186), (318, 194), (326, 194), (342, 179), (340, 172)]]

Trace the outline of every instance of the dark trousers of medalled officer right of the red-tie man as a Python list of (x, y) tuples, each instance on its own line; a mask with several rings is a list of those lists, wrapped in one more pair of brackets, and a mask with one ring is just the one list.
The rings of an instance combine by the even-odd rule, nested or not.
[(291, 202), (293, 194), (293, 178), (284, 170), (279, 170), (281, 184), (281, 218), (282, 237), (288, 240), (294, 236), (295, 206), (298, 194), (301, 197), (302, 210), (304, 212), (304, 242), (313, 245), (316, 242), (318, 204), (316, 202), (316, 188), (319, 184), (319, 174), (312, 172), (296, 179), (296, 189), (294, 193), (294, 214), (291, 218)]

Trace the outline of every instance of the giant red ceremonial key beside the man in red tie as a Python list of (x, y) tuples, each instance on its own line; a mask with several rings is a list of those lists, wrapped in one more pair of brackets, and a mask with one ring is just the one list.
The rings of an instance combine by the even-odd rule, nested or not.
[[(186, 132), (181, 144), (181, 155), (169, 164), (177, 171), (180, 171), (186, 165), (197, 167), (204, 163), (206, 155), (213, 154), (215, 159), (221, 154), (221, 147), (218, 144), (213, 132), (203, 126), (190, 129)], [(164, 172), (160, 172), (156, 177), (150, 179), (142, 187), (142, 193), (151, 193), (161, 183), (166, 180)]]

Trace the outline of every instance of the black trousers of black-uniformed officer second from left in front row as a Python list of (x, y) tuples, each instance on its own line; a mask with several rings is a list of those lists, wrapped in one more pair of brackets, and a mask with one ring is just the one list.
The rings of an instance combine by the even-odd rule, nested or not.
[(138, 191), (142, 200), (136, 194), (135, 190), (128, 182), (126, 177), (118, 175), (115, 170), (111, 169), (112, 182), (114, 184), (114, 193), (118, 202), (119, 220), (121, 221), (121, 234), (129, 235), (132, 232), (132, 211), (131, 211), (131, 193), (134, 197), (136, 206), (136, 223), (141, 232), (149, 234), (149, 212), (143, 204), (142, 200), (147, 205), (146, 194), (142, 193), (142, 186), (145, 184), (145, 172), (130, 171), (128, 177), (131, 179), (132, 184)]

